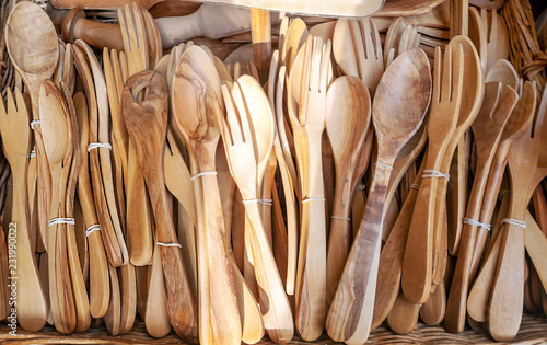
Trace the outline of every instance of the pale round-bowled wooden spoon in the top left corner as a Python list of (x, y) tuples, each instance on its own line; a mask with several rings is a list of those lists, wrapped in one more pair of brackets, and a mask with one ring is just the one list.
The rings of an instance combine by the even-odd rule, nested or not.
[[(28, 25), (33, 23), (33, 25)], [(40, 33), (37, 35), (36, 33)], [(5, 48), (19, 76), (28, 88), (32, 101), (32, 118), (39, 120), (38, 93), (43, 80), (50, 79), (57, 67), (59, 46), (51, 20), (36, 3), (18, 3), (5, 22)], [(37, 125), (38, 123), (34, 123)], [(37, 188), (39, 232), (47, 239), (50, 174), (45, 156), (40, 126), (33, 126), (36, 147), (37, 179), (43, 188)], [(44, 240), (47, 243), (47, 240)], [(46, 248), (47, 249), (47, 248)]]

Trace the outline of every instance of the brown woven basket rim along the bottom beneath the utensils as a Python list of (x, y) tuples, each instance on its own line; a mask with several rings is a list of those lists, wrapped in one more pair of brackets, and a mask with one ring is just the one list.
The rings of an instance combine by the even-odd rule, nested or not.
[[(59, 335), (54, 326), (46, 326), (38, 333), (28, 333), (18, 329), (15, 336), (9, 335), (10, 329), (5, 324), (0, 324), (0, 341), (2, 344), (144, 344), (154, 342), (154, 344), (185, 344), (175, 332), (167, 336), (154, 340), (147, 334), (144, 324), (140, 319), (136, 321), (135, 326), (128, 334), (110, 336), (104, 326), (91, 329), (84, 333), (75, 333), (70, 336)], [(509, 343), (497, 343), (486, 334), (479, 334), (469, 327), (463, 333), (450, 334), (442, 326), (427, 326), (419, 322), (416, 330), (407, 335), (397, 335), (393, 333), (385, 324), (371, 333), (369, 344), (544, 344), (547, 341), (547, 322), (539, 314), (524, 314), (519, 334)], [(272, 344), (268, 337), (257, 344)], [(290, 344), (306, 344), (300, 337), (294, 337)], [(333, 342), (326, 334), (323, 334), (315, 344), (341, 344)]]

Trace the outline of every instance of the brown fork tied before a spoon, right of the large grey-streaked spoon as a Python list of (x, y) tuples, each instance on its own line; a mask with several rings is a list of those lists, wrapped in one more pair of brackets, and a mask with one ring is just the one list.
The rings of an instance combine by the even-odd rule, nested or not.
[(409, 301), (417, 303), (426, 302), (432, 280), (433, 211), (440, 188), (439, 179), (429, 172), (441, 169), (450, 138), (457, 127), (464, 84), (463, 54), (459, 45), (447, 46), (441, 60), (441, 49), (435, 49), (433, 99), (428, 120), (428, 159), (424, 161), (428, 177), (421, 182), (418, 192), (403, 260), (403, 291)]

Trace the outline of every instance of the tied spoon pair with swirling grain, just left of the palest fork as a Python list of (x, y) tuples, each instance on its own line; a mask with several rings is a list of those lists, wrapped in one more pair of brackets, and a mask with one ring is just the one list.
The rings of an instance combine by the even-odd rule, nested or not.
[(191, 46), (183, 54), (173, 78), (172, 110), (177, 129), (187, 142), (191, 173), (194, 176), (200, 174), (193, 181), (194, 189), (199, 191), (195, 193), (198, 206), (199, 340), (213, 343), (217, 338), (225, 344), (238, 344), (242, 327), (232, 284), (234, 269), (228, 262), (222, 206), (213, 175), (220, 137), (214, 112), (221, 112), (221, 97), (220, 79), (213, 62), (202, 48)]

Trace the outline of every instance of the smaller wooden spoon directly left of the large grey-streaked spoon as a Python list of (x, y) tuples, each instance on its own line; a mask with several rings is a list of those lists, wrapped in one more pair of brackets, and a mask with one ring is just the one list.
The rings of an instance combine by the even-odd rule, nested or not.
[(369, 90), (357, 77), (340, 77), (327, 91), (326, 131), (333, 147), (336, 192), (327, 248), (327, 304), (333, 300), (351, 246), (351, 200), (359, 153), (371, 120)]

